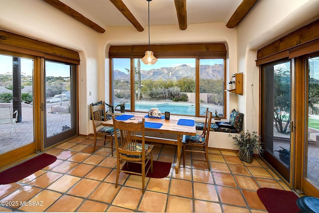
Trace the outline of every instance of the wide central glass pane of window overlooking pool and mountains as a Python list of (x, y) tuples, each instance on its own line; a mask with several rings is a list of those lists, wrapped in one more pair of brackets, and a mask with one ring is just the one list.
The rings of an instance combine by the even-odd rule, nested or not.
[(135, 111), (158, 108), (162, 114), (195, 115), (194, 58), (159, 58), (154, 65), (135, 59), (134, 63)]

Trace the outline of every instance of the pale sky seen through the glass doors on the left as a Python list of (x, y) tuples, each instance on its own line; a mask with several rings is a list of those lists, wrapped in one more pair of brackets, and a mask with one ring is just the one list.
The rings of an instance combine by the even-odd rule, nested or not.
[[(21, 58), (21, 73), (32, 76), (33, 60)], [(0, 74), (12, 73), (12, 56), (0, 54)], [(70, 77), (70, 66), (56, 62), (46, 62), (46, 76)]]

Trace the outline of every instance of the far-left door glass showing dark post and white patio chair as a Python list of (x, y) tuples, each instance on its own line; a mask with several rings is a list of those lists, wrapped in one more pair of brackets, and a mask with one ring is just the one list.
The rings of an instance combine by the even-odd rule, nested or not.
[(33, 59), (0, 54), (0, 154), (34, 142), (32, 84)]

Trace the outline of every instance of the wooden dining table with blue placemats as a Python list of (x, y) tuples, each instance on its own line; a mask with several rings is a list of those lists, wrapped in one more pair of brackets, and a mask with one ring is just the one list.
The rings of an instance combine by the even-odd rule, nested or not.
[[(180, 159), (181, 159), (181, 148), (182, 148), (182, 137), (183, 135), (196, 135), (195, 120), (193, 118), (184, 118), (171, 115), (169, 120), (165, 120), (162, 116), (158, 117), (149, 117), (148, 113), (140, 112), (128, 112), (122, 114), (116, 119), (123, 120), (125, 122), (139, 122), (142, 121), (142, 118), (145, 118), (145, 131), (146, 138), (148, 142), (170, 144), (177, 146), (177, 160), (175, 163), (175, 173), (178, 173)], [(193, 124), (193, 125), (192, 125)], [(113, 120), (108, 120), (103, 122), (104, 126), (113, 126)], [(148, 133), (148, 134), (147, 134)], [(153, 133), (153, 134), (152, 134)], [(155, 135), (160, 133), (160, 136)], [(173, 135), (175, 137), (165, 137), (167, 135)]]

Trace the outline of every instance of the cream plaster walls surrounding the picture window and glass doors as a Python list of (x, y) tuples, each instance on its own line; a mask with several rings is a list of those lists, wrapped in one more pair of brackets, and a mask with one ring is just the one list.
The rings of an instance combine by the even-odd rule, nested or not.
[[(244, 128), (258, 131), (256, 50), (311, 22), (318, 17), (318, 11), (319, 0), (259, 0), (233, 29), (222, 22), (190, 24), (186, 30), (180, 30), (178, 25), (151, 25), (151, 44), (224, 42), (227, 82), (232, 73), (244, 72), (244, 95), (227, 95), (227, 116), (233, 108), (238, 109), (245, 114)], [(110, 27), (101, 34), (42, 0), (6, 0), (0, 6), (0, 29), (80, 52), (79, 127), (84, 135), (92, 132), (88, 105), (109, 101), (109, 46), (148, 44), (148, 27), (144, 28), (138, 32), (133, 26)], [(252, 113), (253, 106), (256, 113)]]

